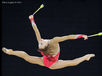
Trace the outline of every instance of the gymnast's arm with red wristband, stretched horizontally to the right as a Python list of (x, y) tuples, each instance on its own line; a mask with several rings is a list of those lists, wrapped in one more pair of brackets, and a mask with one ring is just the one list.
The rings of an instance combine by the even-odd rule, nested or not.
[(65, 40), (78, 39), (78, 38), (84, 38), (84, 40), (88, 39), (87, 35), (77, 34), (77, 35), (67, 35), (62, 37), (54, 37), (52, 41), (58, 43)]

